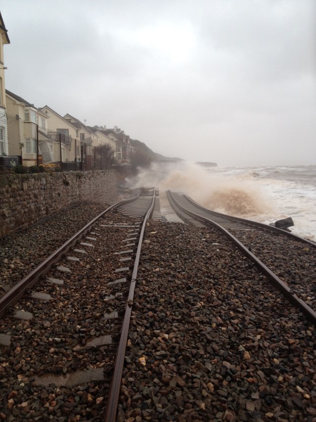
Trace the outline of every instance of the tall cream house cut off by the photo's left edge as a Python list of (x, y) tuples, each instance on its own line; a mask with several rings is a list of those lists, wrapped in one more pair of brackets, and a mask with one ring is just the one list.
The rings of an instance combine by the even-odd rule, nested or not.
[(6, 98), (4, 83), (3, 45), (10, 44), (10, 40), (0, 13), (0, 155), (9, 155), (8, 130), (6, 117)]

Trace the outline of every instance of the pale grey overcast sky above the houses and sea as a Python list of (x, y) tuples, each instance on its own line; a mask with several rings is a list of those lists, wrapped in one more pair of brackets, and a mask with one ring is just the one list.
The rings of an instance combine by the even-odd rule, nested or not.
[(167, 156), (316, 164), (315, 0), (2, 0), (6, 89)]

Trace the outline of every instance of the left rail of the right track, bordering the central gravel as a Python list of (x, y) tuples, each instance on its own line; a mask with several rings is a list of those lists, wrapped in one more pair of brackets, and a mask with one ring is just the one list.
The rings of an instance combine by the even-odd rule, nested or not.
[(215, 223), (214, 221), (194, 213), (183, 207), (173, 196), (172, 192), (168, 191), (169, 198), (179, 207), (182, 211), (186, 212), (189, 215), (192, 215), (196, 219), (200, 219), (201, 221), (211, 224), (212, 226), (219, 229), (221, 232), (226, 234), (237, 246), (238, 248), (248, 257), (250, 258), (255, 265), (259, 268), (259, 270), (267, 276), (267, 278), (281, 291), (281, 293), (296, 307), (298, 307), (306, 317), (316, 325), (316, 312), (308, 306), (304, 300), (300, 299), (296, 293), (292, 291), (292, 289), (286, 285), (282, 280), (280, 280), (275, 273), (273, 273), (260, 259), (258, 259), (246, 246), (244, 246), (233, 234), (231, 234), (228, 230), (224, 229), (224, 227), (220, 226), (219, 224)]

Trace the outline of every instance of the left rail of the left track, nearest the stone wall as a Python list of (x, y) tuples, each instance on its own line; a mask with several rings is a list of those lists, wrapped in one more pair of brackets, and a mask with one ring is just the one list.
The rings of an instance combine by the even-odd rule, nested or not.
[(1, 296), (0, 317), (11, 305), (16, 303), (23, 296), (24, 292), (30, 287), (32, 287), (39, 280), (40, 276), (45, 274), (50, 269), (50, 267), (61, 258), (64, 253), (66, 253), (84, 234), (91, 230), (92, 226), (96, 223), (97, 220), (103, 217), (104, 214), (112, 211), (113, 209), (116, 209), (119, 205), (135, 201), (139, 196), (140, 193), (138, 193), (131, 199), (124, 199), (108, 207), (105, 211), (96, 216), (82, 229), (80, 229), (79, 232), (77, 232), (70, 239), (68, 239), (63, 245), (56, 249), (43, 262), (41, 262), (40, 265), (38, 265), (33, 271), (31, 271), (31, 273), (25, 276), (21, 281), (19, 281), (15, 286), (8, 290), (3, 296)]

